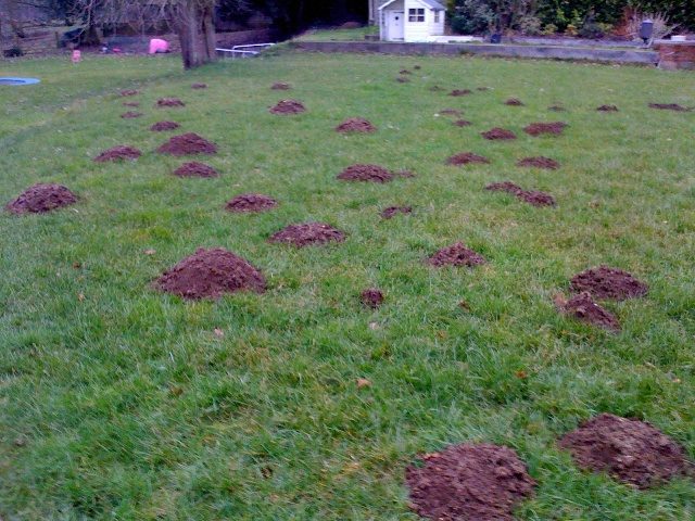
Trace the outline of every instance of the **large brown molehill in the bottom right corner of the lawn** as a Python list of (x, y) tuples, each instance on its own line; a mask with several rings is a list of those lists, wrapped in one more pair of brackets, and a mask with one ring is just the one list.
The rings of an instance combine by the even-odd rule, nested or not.
[(637, 419), (598, 415), (563, 436), (559, 446), (572, 453), (577, 465), (640, 488), (686, 472), (683, 448)]

